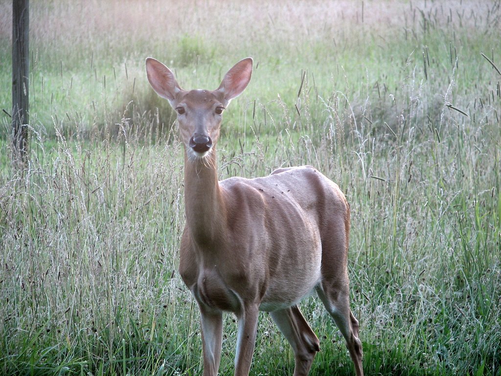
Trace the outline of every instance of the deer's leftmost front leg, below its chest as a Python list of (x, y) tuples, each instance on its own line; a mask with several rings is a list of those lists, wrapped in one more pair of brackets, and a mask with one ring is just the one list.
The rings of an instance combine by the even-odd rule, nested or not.
[(221, 360), (222, 312), (199, 303), (202, 330), (203, 376), (216, 376)]

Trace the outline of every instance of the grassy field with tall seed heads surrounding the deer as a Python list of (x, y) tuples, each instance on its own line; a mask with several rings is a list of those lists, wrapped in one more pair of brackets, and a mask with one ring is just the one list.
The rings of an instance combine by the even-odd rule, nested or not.
[[(31, 2), (30, 153), (11, 155), (0, 1), (0, 374), (201, 375), (178, 272), (183, 150), (144, 59), (215, 89), (252, 56), (220, 178), (312, 164), (351, 204), (366, 374), (501, 375), (501, 2)], [(354, 374), (317, 297), (311, 375)], [(225, 316), (220, 374), (236, 337)], [(289, 375), (260, 316), (250, 374)]]

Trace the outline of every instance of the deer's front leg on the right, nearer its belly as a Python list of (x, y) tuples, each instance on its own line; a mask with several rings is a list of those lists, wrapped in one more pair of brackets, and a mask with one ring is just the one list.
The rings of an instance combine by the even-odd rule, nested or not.
[(256, 346), (259, 309), (257, 305), (244, 308), (238, 317), (238, 334), (236, 337), (235, 376), (249, 374), (250, 363)]

